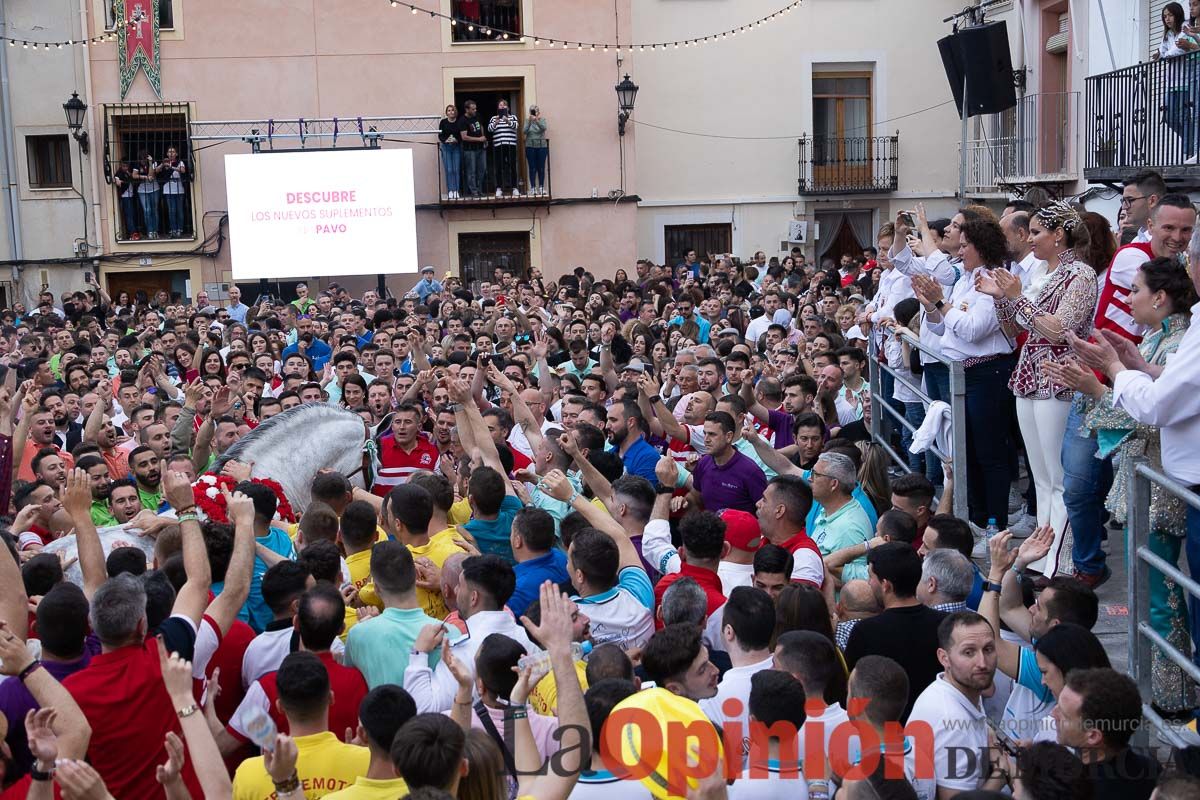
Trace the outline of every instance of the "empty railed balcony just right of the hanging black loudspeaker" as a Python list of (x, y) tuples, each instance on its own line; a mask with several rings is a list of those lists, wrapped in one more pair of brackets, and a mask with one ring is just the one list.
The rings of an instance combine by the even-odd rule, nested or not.
[(1026, 95), (1016, 107), (972, 120), (967, 192), (1008, 194), (1079, 180), (1079, 92)]

